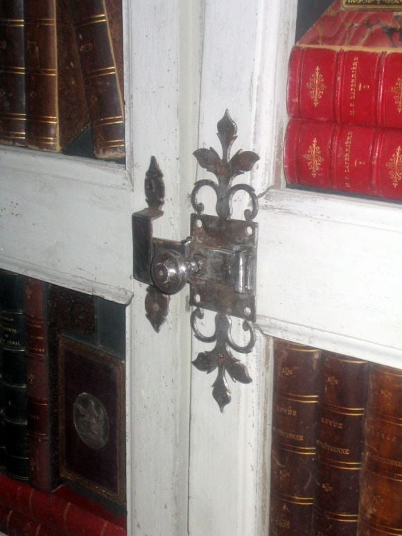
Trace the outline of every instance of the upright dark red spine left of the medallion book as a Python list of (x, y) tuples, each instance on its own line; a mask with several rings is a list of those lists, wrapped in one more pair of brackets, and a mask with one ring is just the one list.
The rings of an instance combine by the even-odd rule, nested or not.
[[(28, 395), (29, 483), (50, 491), (55, 485), (51, 444), (50, 371), (43, 281), (24, 278)], [(52, 448), (53, 447), (53, 448)]]

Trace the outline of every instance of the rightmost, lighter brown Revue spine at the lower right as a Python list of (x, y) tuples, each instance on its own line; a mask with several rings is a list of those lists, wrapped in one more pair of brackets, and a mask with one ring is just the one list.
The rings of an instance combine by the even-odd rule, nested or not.
[(360, 481), (359, 536), (402, 534), (402, 371), (372, 365)]

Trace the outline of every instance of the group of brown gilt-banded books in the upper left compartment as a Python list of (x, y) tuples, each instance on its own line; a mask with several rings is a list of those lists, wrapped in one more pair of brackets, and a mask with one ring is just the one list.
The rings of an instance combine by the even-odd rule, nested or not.
[(0, 143), (125, 155), (121, 0), (0, 2)]

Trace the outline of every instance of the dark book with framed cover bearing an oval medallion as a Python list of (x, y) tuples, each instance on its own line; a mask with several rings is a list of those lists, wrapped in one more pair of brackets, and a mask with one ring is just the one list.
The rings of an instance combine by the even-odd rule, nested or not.
[(58, 381), (60, 476), (124, 505), (123, 361), (61, 337)]

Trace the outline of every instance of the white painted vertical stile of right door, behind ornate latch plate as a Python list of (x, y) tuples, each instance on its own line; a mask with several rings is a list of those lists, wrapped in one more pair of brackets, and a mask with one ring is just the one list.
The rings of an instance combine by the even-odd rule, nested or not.
[[(228, 109), (238, 127), (238, 139), (231, 154), (242, 148), (254, 150), (261, 158), (254, 170), (241, 175), (236, 183), (251, 180), (257, 194), (281, 182), (284, 95), (296, 7), (296, 0), (206, 1), (200, 146), (212, 146), (220, 153), (216, 123)], [(198, 179), (212, 178), (208, 175), (199, 170)], [(243, 204), (239, 196), (234, 198), (234, 215), (243, 218), (244, 207), (240, 207)], [(266, 230), (260, 228), (259, 232), (265, 236)], [(257, 312), (259, 300), (261, 297), (257, 296)], [(241, 324), (234, 325), (234, 338), (241, 340)], [(210, 349), (195, 341), (193, 357), (204, 347)], [(211, 394), (216, 372), (192, 372), (191, 536), (268, 533), (267, 415), (272, 370), (269, 352), (265, 352), (265, 336), (257, 333), (254, 351), (238, 357), (247, 365), (253, 382), (245, 386), (228, 380), (231, 403), (223, 415)]]

